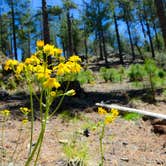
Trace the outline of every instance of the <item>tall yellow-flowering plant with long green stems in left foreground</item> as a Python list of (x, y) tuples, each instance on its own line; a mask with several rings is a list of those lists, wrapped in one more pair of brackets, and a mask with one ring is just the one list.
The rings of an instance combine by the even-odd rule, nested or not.
[[(82, 67), (79, 64), (81, 59), (76, 55), (71, 56), (69, 59), (65, 59), (61, 53), (61, 49), (50, 44), (44, 45), (44, 41), (39, 40), (37, 41), (36, 53), (31, 57), (26, 58), (24, 62), (9, 59), (4, 66), (4, 70), (12, 70), (16, 78), (24, 81), (24, 83), (28, 85), (30, 93), (31, 108), (20, 108), (21, 112), (25, 115), (29, 112), (31, 113), (30, 149), (25, 166), (31, 165), (30, 163), (34, 158), (34, 165), (37, 164), (48, 119), (59, 109), (64, 96), (75, 95), (73, 89), (68, 90), (69, 84), (67, 84), (65, 91), (62, 91), (59, 88), (64, 80), (70, 81), (70, 75), (77, 74), (81, 71)], [(49, 64), (49, 58), (51, 58), (54, 63)], [(36, 88), (40, 94), (39, 96), (36, 94)], [(59, 96), (61, 96), (60, 102), (55, 110), (50, 112), (51, 104)], [(32, 149), (34, 133), (34, 97), (36, 97), (39, 102), (41, 130), (35, 147)], [(27, 122), (27, 118), (25, 120)]]

